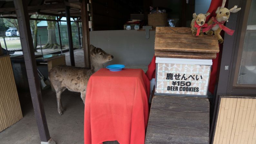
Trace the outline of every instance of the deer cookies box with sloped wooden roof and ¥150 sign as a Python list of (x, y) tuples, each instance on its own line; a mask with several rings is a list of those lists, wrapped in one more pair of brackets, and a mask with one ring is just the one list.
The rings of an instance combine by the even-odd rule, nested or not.
[(193, 36), (191, 28), (156, 27), (155, 95), (207, 97), (216, 36)]

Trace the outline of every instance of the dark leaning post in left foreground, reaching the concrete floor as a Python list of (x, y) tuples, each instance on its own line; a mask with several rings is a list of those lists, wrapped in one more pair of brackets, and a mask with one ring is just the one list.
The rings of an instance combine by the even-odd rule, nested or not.
[(26, 72), (28, 77), (30, 94), (33, 102), (33, 108), (36, 118), (36, 123), (42, 142), (55, 143), (49, 134), (47, 127), (46, 117), (44, 113), (44, 105), (41, 95), (41, 88), (39, 78), (37, 75), (37, 68), (35, 62), (33, 40), (30, 30), (30, 23), (28, 17), (28, 10), (26, 1), (15, 0), (15, 11), (19, 24), (19, 32), (21, 39), (21, 46), (23, 48), (23, 54), (25, 59)]

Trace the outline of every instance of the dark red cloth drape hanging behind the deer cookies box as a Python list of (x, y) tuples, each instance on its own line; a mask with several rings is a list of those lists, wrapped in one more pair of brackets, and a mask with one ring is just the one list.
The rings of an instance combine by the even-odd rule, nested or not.
[[(208, 22), (209, 18), (211, 18), (212, 16), (216, 16), (215, 11), (221, 5), (222, 5), (222, 0), (212, 0), (211, 5), (207, 11), (211, 14), (206, 17), (206, 22)], [(219, 44), (219, 47), (220, 47), (220, 52), (221, 52), (222, 44)], [(212, 71), (211, 71), (210, 82), (209, 82), (209, 91), (211, 93), (214, 93), (214, 87), (215, 87), (216, 79), (217, 79), (217, 72), (219, 69), (219, 66), (218, 66), (219, 61), (220, 61), (219, 53), (217, 53), (216, 59), (212, 60)], [(148, 76), (149, 80), (151, 80), (152, 78), (155, 78), (155, 68), (156, 68), (155, 56), (153, 56), (153, 59), (150, 62), (150, 64), (148, 65), (148, 70), (146, 72), (146, 75)]]

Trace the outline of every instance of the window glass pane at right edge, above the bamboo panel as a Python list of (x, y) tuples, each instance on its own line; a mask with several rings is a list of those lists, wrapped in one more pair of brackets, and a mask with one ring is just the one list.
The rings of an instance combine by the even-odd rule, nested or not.
[(256, 84), (256, 0), (251, 2), (237, 83)]

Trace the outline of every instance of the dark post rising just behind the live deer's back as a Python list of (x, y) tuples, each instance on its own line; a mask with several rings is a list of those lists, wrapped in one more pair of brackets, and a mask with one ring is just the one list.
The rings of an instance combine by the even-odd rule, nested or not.
[(67, 18), (67, 28), (68, 28), (68, 43), (69, 43), (70, 63), (71, 63), (71, 66), (75, 66), (73, 38), (72, 38), (72, 29), (71, 29), (69, 9), (70, 9), (69, 6), (65, 6), (66, 18)]

